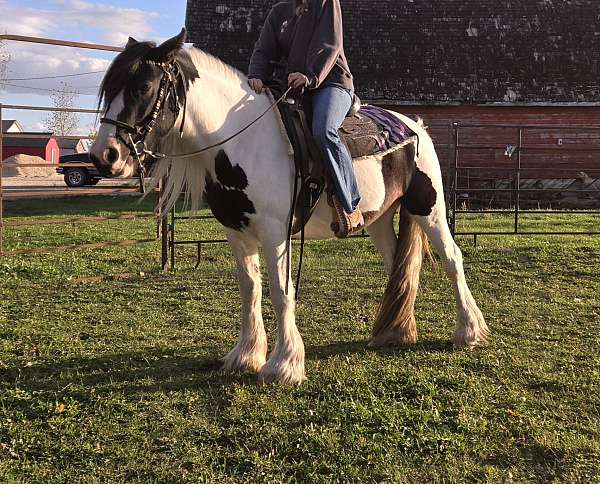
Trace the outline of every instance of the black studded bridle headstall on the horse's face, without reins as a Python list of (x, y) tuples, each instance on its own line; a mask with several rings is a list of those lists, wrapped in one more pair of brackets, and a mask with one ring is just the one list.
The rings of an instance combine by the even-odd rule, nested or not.
[[(164, 116), (164, 107), (168, 103), (168, 107), (175, 115), (175, 119), (179, 116), (181, 106), (179, 103), (179, 94), (177, 93), (177, 83), (181, 79), (183, 85), (183, 118), (179, 127), (179, 136), (183, 136), (183, 126), (185, 124), (185, 112), (187, 105), (187, 95), (185, 91), (185, 75), (177, 61), (155, 62), (143, 61), (144, 64), (152, 64), (160, 67), (162, 77), (158, 88), (158, 96), (154, 101), (154, 107), (150, 114), (139, 124), (131, 125), (116, 119), (107, 117), (100, 118), (100, 124), (110, 124), (117, 128), (116, 138), (119, 139), (131, 152), (135, 154), (138, 164), (138, 174), (140, 179), (140, 190), (144, 193), (144, 177), (146, 176), (146, 168), (142, 162), (144, 155), (155, 156), (154, 152), (148, 149), (146, 138), (154, 130), (159, 114), (162, 112)], [(107, 109), (108, 111), (108, 109)]]

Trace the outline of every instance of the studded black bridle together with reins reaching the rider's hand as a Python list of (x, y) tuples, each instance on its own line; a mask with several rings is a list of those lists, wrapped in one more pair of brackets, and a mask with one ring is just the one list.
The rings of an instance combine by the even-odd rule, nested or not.
[[(123, 121), (118, 121), (116, 119), (110, 119), (107, 117), (100, 118), (100, 123), (111, 124), (117, 128), (117, 132), (115, 134), (116, 138), (119, 139), (133, 154), (135, 155), (137, 164), (138, 164), (138, 174), (140, 180), (140, 191), (144, 193), (144, 178), (146, 176), (146, 168), (142, 161), (143, 156), (151, 156), (155, 159), (158, 158), (191, 158), (193, 156), (197, 156), (201, 153), (205, 153), (206, 151), (212, 150), (213, 148), (217, 148), (219, 146), (224, 145), (225, 143), (231, 141), (233, 138), (239, 136), (244, 131), (249, 129), (255, 123), (257, 123), (260, 119), (262, 119), (271, 109), (277, 106), (281, 101), (283, 101), (287, 95), (292, 91), (292, 88), (289, 87), (276, 101), (271, 103), (271, 105), (257, 118), (255, 118), (252, 122), (244, 126), (242, 129), (236, 131), (231, 136), (226, 139), (214, 143), (210, 146), (206, 146), (200, 150), (193, 151), (191, 153), (185, 154), (168, 154), (168, 153), (160, 153), (158, 151), (152, 151), (148, 149), (146, 145), (146, 138), (154, 129), (158, 116), (163, 111), (165, 104), (170, 101), (169, 108), (175, 115), (175, 119), (179, 116), (179, 112), (181, 110), (179, 95), (177, 93), (177, 82), (179, 79), (182, 80), (183, 84), (183, 117), (181, 119), (181, 125), (179, 127), (179, 137), (183, 136), (183, 127), (185, 124), (185, 113), (187, 106), (187, 94), (185, 89), (185, 75), (177, 61), (172, 60), (169, 62), (155, 62), (145, 60), (143, 63), (156, 65), (161, 68), (163, 74), (160, 80), (160, 86), (158, 89), (158, 96), (154, 101), (154, 107), (150, 114), (144, 119), (140, 124), (131, 125), (125, 123)], [(108, 109), (107, 109), (108, 111)], [(163, 113), (164, 114), (164, 113)], [(123, 133), (126, 136), (123, 136)]]

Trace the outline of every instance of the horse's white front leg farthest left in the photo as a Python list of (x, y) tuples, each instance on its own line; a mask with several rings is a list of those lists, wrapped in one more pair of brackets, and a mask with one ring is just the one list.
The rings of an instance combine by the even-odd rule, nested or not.
[(237, 260), (242, 322), (238, 342), (225, 356), (223, 368), (258, 372), (267, 357), (267, 335), (261, 311), (262, 282), (258, 243), (251, 236), (233, 230), (227, 231), (227, 239)]

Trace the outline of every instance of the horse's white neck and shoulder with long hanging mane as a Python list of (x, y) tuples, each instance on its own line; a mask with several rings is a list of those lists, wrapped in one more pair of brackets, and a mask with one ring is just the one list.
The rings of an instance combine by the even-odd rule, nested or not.
[[(213, 179), (216, 176), (215, 159), (221, 149), (232, 164), (239, 165), (244, 171), (247, 190), (255, 204), (260, 205), (261, 200), (264, 202), (269, 197), (279, 202), (289, 200), (293, 186), (293, 161), (276, 109), (269, 111), (271, 99), (266, 95), (256, 95), (250, 90), (247, 80), (237, 73), (219, 73), (220, 65), (216, 66), (216, 72), (210, 71), (207, 66), (196, 67), (200, 77), (187, 92), (183, 138), (180, 139), (178, 130), (174, 129), (164, 140), (168, 152), (193, 153), (221, 143), (250, 125), (265, 111), (267, 113), (248, 130), (218, 148), (196, 157), (159, 163), (154, 180), (157, 183), (162, 176), (167, 177), (165, 206), (173, 206), (186, 187), (192, 208), (197, 206), (207, 174)], [(180, 121), (181, 118), (178, 123)], [(176, 126), (179, 124), (176, 123)], [(277, 190), (273, 187), (265, 190), (265, 183), (270, 181), (277, 183)]]

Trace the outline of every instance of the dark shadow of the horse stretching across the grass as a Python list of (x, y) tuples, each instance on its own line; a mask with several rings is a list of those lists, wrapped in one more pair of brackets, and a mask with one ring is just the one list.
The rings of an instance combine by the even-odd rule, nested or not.
[[(374, 350), (367, 341), (338, 342), (307, 348), (309, 360), (327, 360), (337, 355), (376, 352), (383, 357), (395, 357), (406, 352), (450, 352), (445, 341), (423, 341), (402, 348)], [(228, 388), (235, 384), (257, 385), (254, 374), (221, 371), (221, 360), (176, 354), (172, 350), (149, 350), (111, 354), (89, 358), (69, 358), (45, 361), (23, 367), (0, 370), (0, 391), (25, 391), (42, 399), (95, 401), (111, 395), (139, 395), (198, 390), (210, 395), (219, 407), (229, 405)], [(138, 398), (138, 397), (135, 397)], [(29, 399), (7, 396), (4, 403), (18, 407), (32, 418), (40, 409), (31, 406)]]

